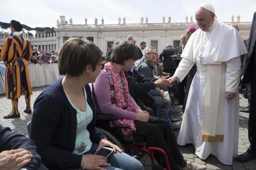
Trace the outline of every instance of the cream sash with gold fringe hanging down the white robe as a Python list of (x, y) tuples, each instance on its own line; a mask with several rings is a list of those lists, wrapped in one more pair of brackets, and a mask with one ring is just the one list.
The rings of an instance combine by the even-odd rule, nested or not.
[(202, 122), (203, 142), (222, 142), (224, 139), (225, 63), (207, 65), (204, 111)]

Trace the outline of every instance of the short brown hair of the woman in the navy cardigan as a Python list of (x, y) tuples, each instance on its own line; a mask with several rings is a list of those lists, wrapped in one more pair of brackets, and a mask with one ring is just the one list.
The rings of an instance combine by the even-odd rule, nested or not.
[(71, 38), (60, 50), (58, 58), (60, 75), (79, 76), (84, 72), (86, 65), (91, 65), (94, 71), (96, 65), (101, 62), (101, 56), (101, 50), (93, 42)]

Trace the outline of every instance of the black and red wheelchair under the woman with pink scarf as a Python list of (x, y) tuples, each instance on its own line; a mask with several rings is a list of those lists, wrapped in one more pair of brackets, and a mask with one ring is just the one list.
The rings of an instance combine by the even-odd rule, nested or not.
[[(138, 160), (142, 159), (147, 154), (151, 159), (152, 170), (171, 170), (168, 156), (164, 150), (162, 150), (161, 148), (148, 147), (144, 137), (135, 135), (132, 127), (117, 125), (115, 122), (116, 116), (112, 114), (101, 113), (98, 113), (96, 115), (97, 129), (102, 131), (110, 142), (117, 145), (125, 153)], [(113, 122), (115, 127), (110, 127), (109, 122)], [(121, 128), (129, 128), (132, 131), (133, 138), (131, 140), (125, 138), (125, 136), (121, 132)], [(174, 136), (176, 136), (175, 133)], [(162, 158), (165, 160), (165, 162), (167, 162), (167, 167), (160, 167), (160, 165), (155, 164), (154, 151), (162, 153)]]

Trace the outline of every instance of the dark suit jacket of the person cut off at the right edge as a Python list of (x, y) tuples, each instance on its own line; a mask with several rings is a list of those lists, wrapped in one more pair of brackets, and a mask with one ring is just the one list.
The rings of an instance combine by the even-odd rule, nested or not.
[(256, 66), (256, 12), (253, 15), (253, 22), (251, 24), (251, 31), (250, 36), (248, 39), (247, 51), (248, 54), (245, 54), (245, 58), (243, 60), (243, 67), (242, 67), (242, 75), (244, 75), (242, 83), (249, 83), (251, 82), (251, 72), (253, 67)]

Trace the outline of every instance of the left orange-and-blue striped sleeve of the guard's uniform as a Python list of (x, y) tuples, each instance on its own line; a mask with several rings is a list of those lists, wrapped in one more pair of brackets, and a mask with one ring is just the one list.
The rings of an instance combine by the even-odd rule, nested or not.
[(1, 60), (5, 63), (10, 63), (15, 59), (16, 54), (16, 44), (13, 42), (13, 38), (8, 37), (5, 39), (3, 48), (1, 51)]

